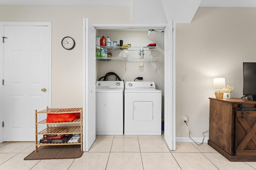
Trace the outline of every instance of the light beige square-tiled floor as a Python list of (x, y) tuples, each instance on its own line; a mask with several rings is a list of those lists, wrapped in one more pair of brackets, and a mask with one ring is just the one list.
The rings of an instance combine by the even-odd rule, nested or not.
[(98, 135), (76, 159), (23, 160), (34, 142), (0, 143), (0, 170), (255, 170), (256, 162), (230, 162), (207, 143), (176, 143), (162, 136)]

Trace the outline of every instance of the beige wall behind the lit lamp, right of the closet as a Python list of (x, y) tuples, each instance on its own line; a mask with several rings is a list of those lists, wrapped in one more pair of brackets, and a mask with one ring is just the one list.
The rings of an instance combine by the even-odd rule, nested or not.
[(256, 8), (198, 8), (190, 24), (176, 24), (177, 137), (188, 137), (182, 115), (192, 137), (208, 130), (214, 77), (234, 86), (232, 98), (243, 96), (242, 63), (256, 62), (255, 18)]

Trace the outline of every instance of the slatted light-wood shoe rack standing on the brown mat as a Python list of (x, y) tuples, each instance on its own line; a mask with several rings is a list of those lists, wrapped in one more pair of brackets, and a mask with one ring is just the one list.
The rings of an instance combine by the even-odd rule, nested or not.
[[(62, 113), (80, 113), (80, 118), (73, 121), (65, 122), (46, 122), (46, 119), (38, 121), (38, 114), (62, 114)], [(45, 125), (46, 128), (38, 132), (38, 125)], [(68, 109), (50, 109), (46, 108), (42, 111), (35, 110), (35, 143), (36, 149), (38, 146), (46, 145), (80, 145), (82, 151), (82, 108), (68, 108)], [(62, 135), (62, 134), (80, 134), (80, 141), (77, 143), (40, 143), (38, 135)]]

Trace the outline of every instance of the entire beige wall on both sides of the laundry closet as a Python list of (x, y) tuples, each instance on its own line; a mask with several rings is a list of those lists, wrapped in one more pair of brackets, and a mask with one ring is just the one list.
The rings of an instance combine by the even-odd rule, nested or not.
[[(0, 6), (0, 21), (52, 22), (52, 107), (82, 107), (82, 18), (131, 23), (130, 11), (128, 6)], [(242, 96), (242, 62), (256, 62), (255, 18), (256, 8), (198, 8), (190, 24), (176, 24), (176, 137), (188, 137), (183, 115), (192, 137), (208, 130), (214, 77), (234, 86), (233, 98)], [(61, 46), (65, 36), (76, 41), (71, 51)]]

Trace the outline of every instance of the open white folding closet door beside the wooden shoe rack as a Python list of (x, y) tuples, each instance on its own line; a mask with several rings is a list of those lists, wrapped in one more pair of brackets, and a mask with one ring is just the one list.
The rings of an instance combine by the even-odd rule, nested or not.
[(96, 29), (84, 19), (84, 54), (83, 54), (83, 150), (88, 151), (96, 138)]

